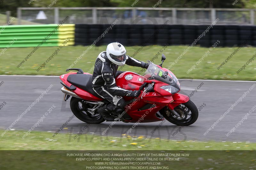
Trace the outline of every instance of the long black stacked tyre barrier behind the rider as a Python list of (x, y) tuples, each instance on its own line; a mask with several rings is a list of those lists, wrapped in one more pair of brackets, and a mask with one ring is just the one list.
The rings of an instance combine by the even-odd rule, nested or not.
[(218, 40), (221, 47), (256, 46), (255, 26), (215, 25), (205, 32), (208, 25), (115, 25), (99, 38), (109, 26), (76, 24), (75, 45), (91, 45), (98, 39), (96, 46), (118, 41), (126, 46), (190, 45), (196, 42), (196, 45), (211, 47)]

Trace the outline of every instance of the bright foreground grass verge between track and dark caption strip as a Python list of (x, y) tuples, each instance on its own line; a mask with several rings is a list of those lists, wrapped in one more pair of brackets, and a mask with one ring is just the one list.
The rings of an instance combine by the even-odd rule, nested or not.
[[(0, 134), (3, 130), (0, 131)], [(1, 137), (0, 150), (255, 150), (256, 143), (173, 141), (143, 136), (103, 137), (81, 135), (68, 131), (52, 137), (52, 132), (9, 131)]]

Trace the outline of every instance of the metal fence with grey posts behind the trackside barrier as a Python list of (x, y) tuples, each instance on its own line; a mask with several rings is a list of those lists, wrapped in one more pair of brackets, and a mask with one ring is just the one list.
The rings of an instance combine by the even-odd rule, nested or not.
[(68, 24), (211, 24), (254, 25), (254, 9), (227, 8), (144, 8), (144, 7), (61, 7), (18, 8), (18, 24), (57, 24), (69, 16)]

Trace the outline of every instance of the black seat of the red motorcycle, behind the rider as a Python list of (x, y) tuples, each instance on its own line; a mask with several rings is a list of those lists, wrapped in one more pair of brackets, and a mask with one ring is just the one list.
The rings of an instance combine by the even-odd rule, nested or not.
[(92, 95), (101, 99), (101, 97), (92, 89), (92, 75), (91, 74), (70, 74), (67, 78), (72, 85), (83, 89)]

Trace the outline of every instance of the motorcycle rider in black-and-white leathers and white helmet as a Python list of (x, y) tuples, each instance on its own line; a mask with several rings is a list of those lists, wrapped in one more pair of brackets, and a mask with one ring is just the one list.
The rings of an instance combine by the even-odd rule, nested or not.
[[(114, 121), (114, 117), (109, 112), (120, 115), (124, 111), (125, 100), (123, 96), (138, 97), (139, 90), (125, 90), (116, 86), (115, 78), (122, 73), (118, 71), (118, 66), (124, 64), (148, 68), (149, 63), (144, 63), (126, 55), (124, 46), (118, 42), (108, 44), (107, 50), (101, 52), (96, 61), (92, 74), (92, 89), (103, 99), (111, 103), (105, 104), (98, 109), (106, 121)], [(123, 115), (123, 114), (122, 114)], [(130, 116), (124, 113), (124, 119), (129, 120)]]

